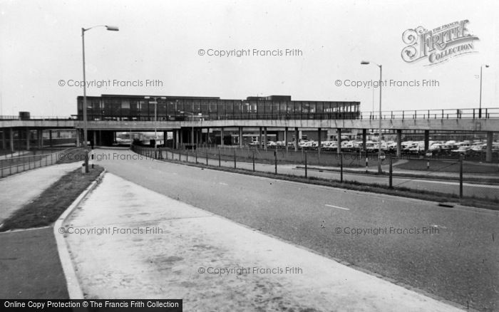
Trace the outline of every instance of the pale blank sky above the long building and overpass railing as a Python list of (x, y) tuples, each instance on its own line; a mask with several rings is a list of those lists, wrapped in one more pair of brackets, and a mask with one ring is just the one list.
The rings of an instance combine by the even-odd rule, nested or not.
[[(7, 1), (0, 0), (1, 112), (76, 113), (87, 80), (162, 80), (163, 87), (89, 88), (88, 95), (292, 95), (294, 100), (359, 100), (370, 111), (378, 93), (335, 80), (436, 79), (433, 88), (384, 88), (383, 110), (499, 107), (499, 1)], [(475, 51), (437, 66), (405, 63), (402, 33), (468, 19)], [(198, 50), (299, 48), (302, 56), (199, 56)]]

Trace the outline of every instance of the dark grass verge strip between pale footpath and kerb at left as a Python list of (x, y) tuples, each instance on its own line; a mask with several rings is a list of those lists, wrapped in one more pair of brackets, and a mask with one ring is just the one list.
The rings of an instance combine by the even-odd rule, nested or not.
[(96, 166), (88, 175), (81, 169), (63, 175), (33, 202), (17, 210), (4, 220), (0, 232), (11, 229), (29, 229), (43, 227), (55, 222), (69, 205), (103, 172), (104, 168)]

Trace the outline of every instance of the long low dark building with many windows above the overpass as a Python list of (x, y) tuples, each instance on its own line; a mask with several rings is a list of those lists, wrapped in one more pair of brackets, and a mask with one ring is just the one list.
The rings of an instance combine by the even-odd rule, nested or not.
[[(157, 107), (155, 107), (157, 105)], [(78, 96), (78, 120), (83, 119), (83, 97)], [(356, 119), (360, 102), (292, 100), (290, 95), (225, 100), (215, 97), (101, 95), (87, 96), (88, 120), (283, 120)]]

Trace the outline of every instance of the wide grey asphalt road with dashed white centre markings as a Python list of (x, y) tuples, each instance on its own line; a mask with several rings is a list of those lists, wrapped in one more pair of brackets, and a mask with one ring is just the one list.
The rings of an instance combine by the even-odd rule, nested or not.
[(99, 165), (155, 192), (463, 306), (499, 309), (499, 212), (98, 152), (110, 155)]

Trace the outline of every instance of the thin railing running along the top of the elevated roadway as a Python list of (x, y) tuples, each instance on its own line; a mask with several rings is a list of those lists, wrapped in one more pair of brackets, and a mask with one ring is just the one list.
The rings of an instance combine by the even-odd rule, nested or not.
[[(335, 120), (360, 119), (379, 120), (379, 112), (335, 112), (335, 113), (279, 113), (279, 114), (240, 114), (240, 115), (194, 115), (158, 116), (158, 121), (190, 121), (190, 120)], [(381, 119), (413, 120), (413, 119), (499, 119), (499, 108), (456, 108), (443, 110), (390, 110), (381, 111)], [(21, 119), (19, 116), (0, 116), (0, 120), (83, 120), (81, 115), (32, 116)], [(150, 116), (93, 116), (89, 121), (154, 121)]]

